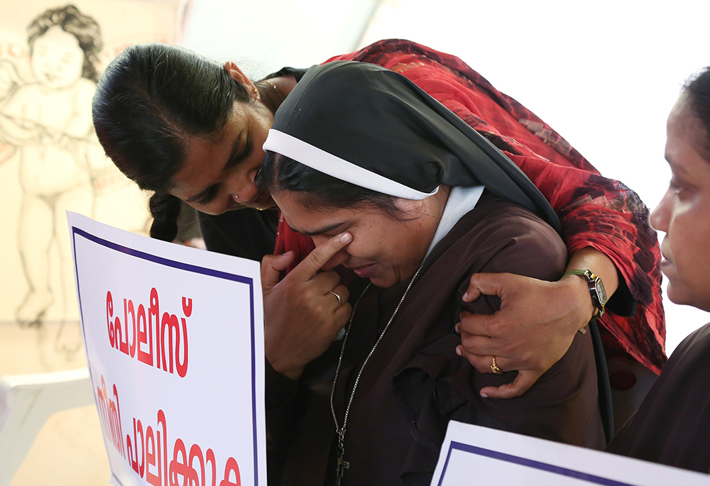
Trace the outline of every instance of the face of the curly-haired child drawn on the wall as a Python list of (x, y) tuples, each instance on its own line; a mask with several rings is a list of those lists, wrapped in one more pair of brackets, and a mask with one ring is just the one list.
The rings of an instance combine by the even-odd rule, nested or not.
[(84, 51), (74, 35), (53, 26), (34, 40), (31, 67), (39, 84), (65, 89), (82, 77)]

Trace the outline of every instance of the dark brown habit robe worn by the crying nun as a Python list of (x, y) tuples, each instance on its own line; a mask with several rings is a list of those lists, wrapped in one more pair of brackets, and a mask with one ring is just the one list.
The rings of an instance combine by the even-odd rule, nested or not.
[[(429, 485), (449, 419), (602, 448), (596, 365), (589, 333), (523, 394), (483, 399), (479, 390), (515, 378), (481, 374), (455, 351), (461, 311), (496, 311), (496, 297), (464, 304), (475, 272), (513, 272), (557, 280), (567, 250), (557, 233), (525, 209), (487, 192), (432, 250), (388, 332), (361, 375), (344, 439), (342, 485)], [(366, 282), (351, 285), (351, 304)], [(342, 425), (359, 367), (408, 282), (370, 287), (357, 306), (335, 392)], [(298, 384), (267, 373), (269, 481), (332, 485), (336, 433), (330, 392), (342, 341), (310, 363)], [(283, 480), (279, 480), (283, 475)]]

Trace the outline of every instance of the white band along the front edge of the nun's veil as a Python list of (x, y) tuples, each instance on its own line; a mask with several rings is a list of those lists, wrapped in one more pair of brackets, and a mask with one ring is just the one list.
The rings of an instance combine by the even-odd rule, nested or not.
[(439, 191), (439, 187), (432, 192), (417, 191), (273, 128), (268, 131), (263, 150), (280, 153), (336, 179), (394, 197), (425, 199)]

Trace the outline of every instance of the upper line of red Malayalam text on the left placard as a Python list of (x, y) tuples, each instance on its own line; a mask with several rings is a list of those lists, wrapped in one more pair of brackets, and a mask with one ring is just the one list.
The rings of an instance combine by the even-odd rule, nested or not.
[[(151, 303), (146, 307), (124, 299), (124, 322), (119, 316), (114, 318), (114, 299), (106, 292), (106, 321), (111, 348), (116, 348), (131, 358), (173, 373), (180, 377), (187, 374), (187, 317), (192, 315), (192, 299), (182, 297), (182, 317), (163, 312), (160, 316), (158, 291), (151, 289)], [(182, 324), (182, 326), (180, 326)], [(167, 335), (166, 335), (167, 331)], [(155, 344), (153, 342), (155, 341)], [(165, 344), (168, 344), (166, 350)], [(182, 360), (180, 360), (182, 351)], [(161, 359), (162, 358), (162, 359)]]

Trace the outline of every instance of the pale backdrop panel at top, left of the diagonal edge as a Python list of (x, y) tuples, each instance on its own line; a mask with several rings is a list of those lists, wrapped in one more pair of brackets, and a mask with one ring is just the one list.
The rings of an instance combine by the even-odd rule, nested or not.
[(190, 0), (182, 45), (258, 78), (349, 53), (377, 0)]

